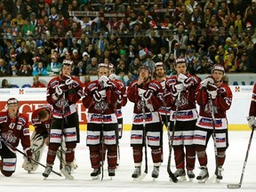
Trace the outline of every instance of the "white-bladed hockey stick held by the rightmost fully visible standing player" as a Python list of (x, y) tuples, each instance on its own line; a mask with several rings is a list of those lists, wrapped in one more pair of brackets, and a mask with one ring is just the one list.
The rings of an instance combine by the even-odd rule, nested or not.
[(212, 116), (212, 140), (213, 140), (213, 145), (214, 145), (214, 153), (215, 153), (215, 172), (212, 175), (212, 177), (207, 180), (207, 183), (212, 182), (213, 180), (216, 180), (217, 174), (218, 174), (218, 151), (217, 151), (217, 141), (216, 141), (216, 129), (215, 129), (215, 116), (214, 116), (214, 110), (213, 110), (213, 104), (212, 104), (212, 97), (209, 95), (208, 97), (209, 103), (211, 106), (211, 116)]

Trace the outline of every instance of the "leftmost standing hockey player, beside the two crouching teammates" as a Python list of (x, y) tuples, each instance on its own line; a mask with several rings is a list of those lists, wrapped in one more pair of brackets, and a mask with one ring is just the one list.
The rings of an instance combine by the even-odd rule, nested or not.
[(66, 165), (61, 169), (61, 172), (67, 179), (74, 179), (70, 175), (71, 163), (74, 161), (76, 143), (80, 140), (76, 102), (84, 94), (80, 80), (70, 76), (72, 66), (73, 61), (63, 60), (60, 76), (53, 77), (46, 89), (46, 100), (52, 105), (52, 122), (46, 160), (47, 167), (43, 173), (45, 178), (52, 171), (52, 165), (61, 141), (65, 140)]

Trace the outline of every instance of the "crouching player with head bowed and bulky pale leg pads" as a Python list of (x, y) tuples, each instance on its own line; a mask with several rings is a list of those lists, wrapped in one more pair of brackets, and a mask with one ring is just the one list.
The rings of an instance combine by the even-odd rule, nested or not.
[[(33, 153), (33, 159), (40, 162), (43, 155), (45, 145), (49, 145), (49, 132), (52, 117), (52, 106), (44, 105), (37, 108), (32, 113), (31, 122), (35, 128), (35, 131), (31, 136), (31, 149)], [(28, 172), (35, 172), (38, 164), (36, 162), (28, 162), (24, 160), (22, 167)]]

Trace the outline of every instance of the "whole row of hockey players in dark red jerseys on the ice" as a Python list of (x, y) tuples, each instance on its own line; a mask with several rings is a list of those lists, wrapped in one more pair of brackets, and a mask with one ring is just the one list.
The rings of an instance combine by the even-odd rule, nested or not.
[[(71, 70), (72, 62), (64, 60), (60, 76), (49, 82), (46, 90), (48, 105), (32, 114), (33, 133), (28, 129), (28, 116), (18, 112), (19, 100), (7, 100), (6, 110), (0, 113), (0, 166), (5, 177), (15, 174), (17, 154), (20, 154), (25, 156), (22, 168), (28, 173), (36, 172), (41, 166), (44, 167), (44, 180), (50, 179), (52, 174), (76, 180), (72, 173), (79, 169), (76, 146), (81, 142), (76, 101), (82, 99), (88, 110), (85, 137), (92, 180), (115, 180), (119, 163), (122, 165), (120, 153), (125, 153), (119, 146), (123, 136), (122, 107), (130, 100), (134, 103), (130, 132), (134, 164), (133, 172), (130, 167), (130, 177), (133, 182), (140, 183), (148, 175), (157, 180), (160, 169), (164, 172), (161, 164), (165, 161), (165, 172), (172, 183), (185, 180), (202, 185), (221, 183), (229, 145), (226, 111), (232, 105), (232, 92), (222, 81), (225, 76), (222, 66), (214, 65), (212, 74), (201, 80), (187, 72), (187, 62), (183, 58), (175, 61), (177, 75), (171, 77), (164, 76), (164, 65), (158, 62), (155, 68), (142, 66), (138, 80), (127, 89), (115, 74), (109, 74), (106, 64), (99, 64), (98, 80), (84, 85), (70, 76)], [(242, 174), (239, 182), (228, 183), (228, 188), (241, 188), (243, 184), (256, 125), (255, 95), (254, 86), (247, 119), (252, 132), (244, 164), (241, 162)], [(199, 105), (198, 111), (196, 105)], [(164, 126), (167, 136), (163, 135)], [(208, 145), (209, 141), (213, 146)], [(168, 142), (167, 150), (163, 142)], [(23, 150), (18, 148), (19, 144)], [(208, 146), (214, 148), (213, 159), (207, 156)], [(42, 158), (44, 150), (46, 159)], [(54, 164), (56, 158), (60, 161), (59, 169)], [(199, 172), (195, 172), (196, 161)], [(207, 166), (210, 161), (215, 164), (211, 174)]]

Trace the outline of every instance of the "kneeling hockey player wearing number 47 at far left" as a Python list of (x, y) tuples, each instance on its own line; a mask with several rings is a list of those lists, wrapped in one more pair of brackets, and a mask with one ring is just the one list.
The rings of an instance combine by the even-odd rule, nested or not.
[(15, 148), (18, 147), (20, 141), (28, 162), (31, 162), (28, 116), (19, 113), (18, 100), (11, 98), (7, 100), (7, 110), (0, 112), (0, 119), (1, 172), (5, 177), (11, 177), (15, 172), (17, 161)]

